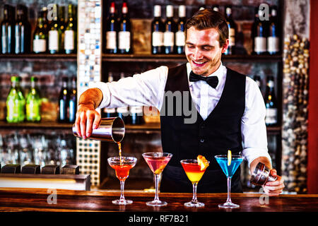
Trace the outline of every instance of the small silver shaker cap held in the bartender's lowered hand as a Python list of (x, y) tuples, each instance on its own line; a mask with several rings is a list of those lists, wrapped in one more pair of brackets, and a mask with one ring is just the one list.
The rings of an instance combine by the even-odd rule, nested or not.
[(254, 169), (250, 182), (254, 185), (264, 185), (266, 182), (276, 181), (277, 177), (271, 176), (269, 171), (269, 168), (267, 168), (263, 163), (259, 162)]

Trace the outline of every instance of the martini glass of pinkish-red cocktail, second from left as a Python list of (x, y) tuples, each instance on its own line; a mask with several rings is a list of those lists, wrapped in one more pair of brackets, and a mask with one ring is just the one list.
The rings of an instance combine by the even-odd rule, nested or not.
[(151, 171), (155, 175), (155, 199), (146, 202), (147, 206), (166, 206), (167, 202), (160, 201), (158, 196), (158, 184), (160, 174), (165, 169), (165, 166), (170, 161), (172, 154), (170, 153), (143, 153), (143, 158), (146, 160)]

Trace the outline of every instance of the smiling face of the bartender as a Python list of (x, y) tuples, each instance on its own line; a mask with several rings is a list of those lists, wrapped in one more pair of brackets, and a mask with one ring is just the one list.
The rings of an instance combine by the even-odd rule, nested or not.
[(218, 31), (215, 28), (187, 30), (185, 54), (192, 71), (200, 76), (208, 76), (220, 66), (220, 58), (228, 49), (228, 40), (220, 47)]

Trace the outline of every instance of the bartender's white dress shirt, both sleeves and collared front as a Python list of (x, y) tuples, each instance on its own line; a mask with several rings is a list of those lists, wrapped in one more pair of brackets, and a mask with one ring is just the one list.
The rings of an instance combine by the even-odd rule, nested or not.
[[(187, 76), (192, 71), (187, 63)], [(111, 83), (92, 83), (90, 88), (99, 88), (102, 91), (102, 102), (99, 108), (113, 108), (124, 106), (153, 106), (161, 109), (167, 81), (167, 66), (132, 77), (122, 78)], [(227, 69), (221, 63), (219, 68), (210, 76), (218, 76), (218, 85), (212, 88), (205, 81), (189, 81), (189, 89), (192, 101), (202, 119), (216, 107), (222, 95)], [(250, 163), (257, 157), (267, 157), (271, 161), (267, 149), (267, 136), (265, 125), (265, 104), (261, 91), (252, 78), (246, 77), (245, 86), (245, 112), (242, 116), (242, 155)]]

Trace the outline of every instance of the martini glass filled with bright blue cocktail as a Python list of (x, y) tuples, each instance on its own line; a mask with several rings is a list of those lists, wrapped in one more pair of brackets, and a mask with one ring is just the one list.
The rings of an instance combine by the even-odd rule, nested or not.
[(214, 156), (218, 165), (220, 165), (221, 169), (225, 173), (225, 176), (228, 178), (228, 199), (225, 203), (218, 205), (220, 208), (239, 208), (240, 206), (232, 203), (231, 201), (231, 178), (233, 174), (236, 172), (236, 169), (240, 166), (243, 156), (242, 155), (232, 155), (232, 159), (230, 161), (230, 165), (228, 165), (228, 155), (216, 155)]

